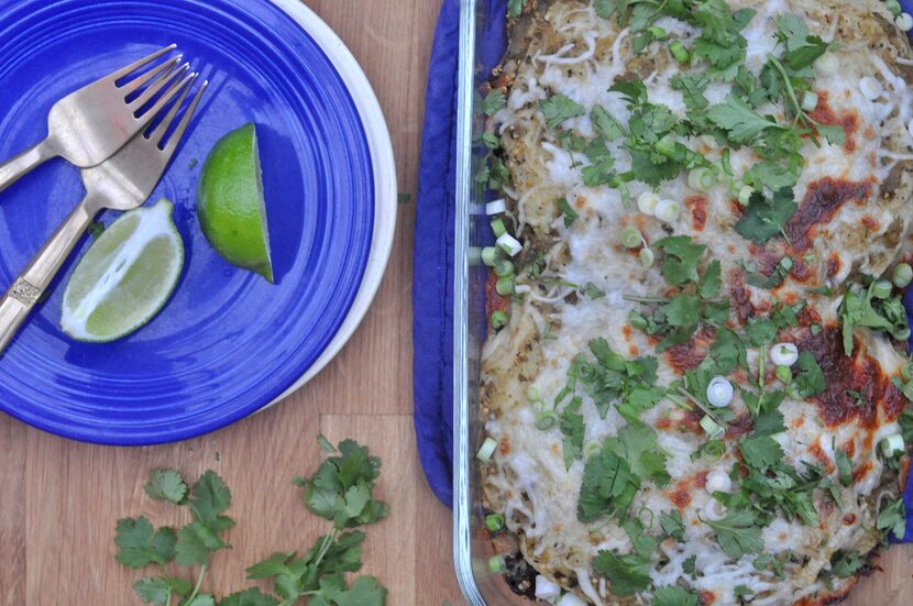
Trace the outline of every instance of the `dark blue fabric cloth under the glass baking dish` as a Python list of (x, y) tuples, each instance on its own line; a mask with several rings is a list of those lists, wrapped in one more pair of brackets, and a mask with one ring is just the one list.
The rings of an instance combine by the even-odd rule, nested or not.
[[(487, 14), (506, 14), (507, 0)], [(913, 0), (903, 0), (913, 10)], [(504, 23), (493, 20), (479, 32), (480, 63), (493, 67), (505, 48)], [(415, 427), (419, 459), (435, 494), (453, 500), (453, 244), (455, 210), (457, 98), (460, 54), (460, 1), (441, 8), (425, 107), (416, 216), (413, 304), (415, 308)], [(484, 67), (483, 67), (484, 71)], [(913, 289), (904, 299), (913, 312)], [(913, 477), (904, 492), (905, 542), (913, 542)]]

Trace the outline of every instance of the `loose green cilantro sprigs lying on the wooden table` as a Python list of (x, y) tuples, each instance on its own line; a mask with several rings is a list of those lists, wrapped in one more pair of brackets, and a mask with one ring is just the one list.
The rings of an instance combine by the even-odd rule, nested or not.
[[(324, 452), (332, 449), (326, 439)], [(386, 590), (371, 576), (358, 579), (351, 586), (345, 573), (361, 569), (364, 533), (340, 532), (356, 526), (374, 524), (384, 518), (386, 504), (374, 499), (374, 482), (381, 462), (367, 449), (352, 441), (339, 444), (339, 456), (331, 456), (310, 478), (296, 481), (305, 488), (305, 505), (312, 513), (333, 521), (332, 530), (304, 557), (296, 551), (275, 553), (248, 569), (249, 579), (270, 579), (283, 606), (307, 598), (309, 606), (383, 606)], [(144, 603), (156, 606), (278, 606), (279, 599), (258, 588), (238, 592), (217, 599), (201, 591), (206, 572), (215, 552), (229, 546), (221, 533), (234, 526), (226, 515), (231, 506), (231, 492), (212, 471), (208, 471), (189, 488), (180, 473), (156, 469), (145, 486), (156, 499), (187, 507), (191, 521), (175, 531), (155, 529), (145, 517), (118, 521), (114, 543), (117, 560), (131, 569), (156, 565), (157, 576), (146, 576), (133, 585)], [(175, 566), (198, 566), (195, 583), (169, 571)]]

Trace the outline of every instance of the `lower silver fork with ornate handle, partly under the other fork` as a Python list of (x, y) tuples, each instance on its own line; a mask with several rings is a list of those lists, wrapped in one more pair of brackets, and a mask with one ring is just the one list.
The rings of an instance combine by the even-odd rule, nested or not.
[(174, 96), (178, 91), (180, 96), (151, 132), (138, 134), (103, 164), (82, 170), (86, 197), (57, 228), (41, 252), (32, 258), (0, 301), (0, 355), (51, 285), (95, 216), (105, 209), (139, 208), (152, 195), (209, 85), (208, 81), (204, 81), (199, 87), (180, 122), (168, 136), (172, 124), (198, 77), (199, 74), (189, 74), (168, 89), (166, 96)]

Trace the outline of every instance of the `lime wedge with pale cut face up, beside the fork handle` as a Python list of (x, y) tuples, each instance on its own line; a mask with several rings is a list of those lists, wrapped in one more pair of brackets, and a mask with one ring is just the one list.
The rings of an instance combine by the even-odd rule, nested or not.
[(134, 332), (165, 306), (184, 268), (174, 205), (124, 213), (76, 266), (64, 291), (61, 327), (77, 341), (105, 343)]

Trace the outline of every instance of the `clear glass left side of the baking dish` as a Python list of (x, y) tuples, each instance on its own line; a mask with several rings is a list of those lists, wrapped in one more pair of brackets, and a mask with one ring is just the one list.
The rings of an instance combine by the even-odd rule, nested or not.
[(501, 575), (488, 572), (494, 553), (484, 525), (475, 452), (482, 427), (479, 412), (479, 373), (485, 342), (485, 282), (487, 268), (479, 251), (492, 244), (484, 216), (485, 192), (476, 186), (484, 157), (479, 136), (484, 114), (480, 89), (506, 51), (507, 0), (462, 0), (460, 15), (460, 75), (457, 142), (457, 238), (454, 285), (454, 563), (463, 595), (473, 606), (529, 605), (510, 592)]

